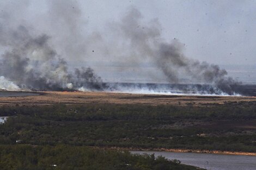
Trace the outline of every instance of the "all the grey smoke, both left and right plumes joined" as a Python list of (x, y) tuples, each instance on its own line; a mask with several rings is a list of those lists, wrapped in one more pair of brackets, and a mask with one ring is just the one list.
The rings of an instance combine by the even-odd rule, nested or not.
[[(19, 10), (27, 10), (29, 1), (25, 2)], [(69, 67), (71, 59), (90, 57), (89, 46), (96, 47), (101, 57), (118, 55), (134, 65), (141, 61), (154, 63), (170, 84), (180, 84), (187, 77), (210, 86), (203, 91), (210, 88), (211, 93), (228, 95), (234, 95), (234, 86), (240, 84), (227, 77), (227, 71), (219, 66), (185, 56), (182, 43), (164, 40), (159, 21), (144, 23), (142, 14), (134, 7), (120, 21), (109, 24), (107, 33), (112, 36), (105, 32), (84, 36), (80, 29), (84, 21), (75, 1), (49, 1), (47, 5), (51, 27), (55, 28), (50, 30), (51, 35), (22, 20), (11, 22), (16, 17), (11, 11), (0, 15), (0, 49), (4, 49), (0, 57), (1, 89), (121, 91), (121, 85), (103, 83), (90, 67)], [(70, 7), (72, 10), (65, 10)]]

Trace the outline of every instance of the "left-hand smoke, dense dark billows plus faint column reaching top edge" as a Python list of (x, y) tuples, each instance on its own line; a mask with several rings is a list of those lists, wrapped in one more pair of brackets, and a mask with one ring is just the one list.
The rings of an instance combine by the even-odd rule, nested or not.
[[(106, 85), (92, 68), (70, 70), (65, 59), (58, 55), (49, 43), (50, 36), (36, 33), (35, 29), (26, 22), (23, 23), (23, 20), (13, 22), (19, 15), (22, 16), (29, 6), (29, 1), (17, 3), (19, 4), (17, 7), (12, 5), (9, 7), (7, 3), (5, 12), (0, 14), (0, 46), (5, 49), (0, 58), (0, 76), (8, 89), (36, 91), (106, 89)], [(73, 9), (67, 11), (70, 6)], [(63, 50), (67, 51), (69, 59), (76, 58), (78, 53), (83, 55), (82, 47), (79, 45), (82, 36), (77, 31), (80, 23), (77, 20), (81, 15), (78, 4), (71, 1), (49, 1), (48, 7), (52, 15), (51, 24), (56, 24), (54, 27), (58, 28), (58, 33), (63, 33), (63, 36), (57, 38), (61, 42), (57, 43), (64, 45)], [(17, 10), (11, 10), (12, 8)], [(16, 14), (17, 11), (20, 13)], [(59, 28), (59, 24), (62, 28)], [(71, 30), (75, 32), (71, 34)]]

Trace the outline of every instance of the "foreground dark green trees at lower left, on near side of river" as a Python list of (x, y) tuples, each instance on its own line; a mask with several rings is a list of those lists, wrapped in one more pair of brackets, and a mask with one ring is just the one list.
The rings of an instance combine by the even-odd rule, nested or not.
[(1, 170), (196, 170), (154, 155), (88, 147), (0, 145)]

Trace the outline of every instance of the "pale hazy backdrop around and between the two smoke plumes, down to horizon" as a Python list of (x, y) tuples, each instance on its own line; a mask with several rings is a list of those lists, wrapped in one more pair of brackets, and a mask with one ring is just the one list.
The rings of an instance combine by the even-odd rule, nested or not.
[(114, 26), (129, 8), (141, 12), (144, 26), (159, 23), (167, 42), (184, 43), (188, 58), (218, 64), (245, 84), (256, 83), (256, 1), (3, 0), (0, 15), (9, 18), (10, 26), (22, 23), (35, 34), (50, 35), (51, 45), (71, 67), (90, 66), (104, 81), (166, 83), (150, 61), (135, 64), (119, 50), (124, 45), (114, 38)]

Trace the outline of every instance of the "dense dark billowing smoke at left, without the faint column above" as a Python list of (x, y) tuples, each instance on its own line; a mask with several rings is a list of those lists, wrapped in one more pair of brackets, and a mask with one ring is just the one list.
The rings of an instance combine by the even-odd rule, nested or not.
[(92, 68), (69, 71), (66, 61), (48, 44), (50, 37), (47, 35), (33, 37), (24, 26), (14, 31), (9, 30), (9, 34), (13, 35), (10, 38), (14, 42), (9, 41), (9, 51), (1, 56), (0, 75), (21, 89), (44, 91), (106, 88)]

